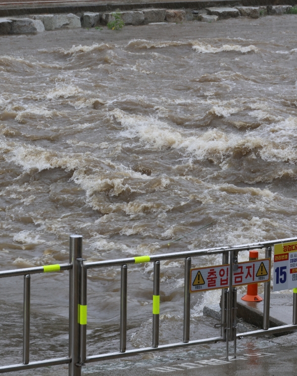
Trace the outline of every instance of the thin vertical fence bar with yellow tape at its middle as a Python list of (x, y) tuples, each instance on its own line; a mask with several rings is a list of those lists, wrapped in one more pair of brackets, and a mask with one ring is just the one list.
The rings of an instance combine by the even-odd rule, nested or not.
[(160, 262), (153, 263), (152, 347), (159, 346)]

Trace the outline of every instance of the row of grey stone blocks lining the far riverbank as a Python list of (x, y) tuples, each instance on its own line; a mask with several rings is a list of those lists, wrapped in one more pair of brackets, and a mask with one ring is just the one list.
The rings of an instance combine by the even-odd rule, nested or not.
[[(120, 11), (125, 25), (185, 21), (215, 22), (231, 17), (259, 18), (264, 15), (281, 15), (288, 12), (291, 5), (210, 7), (204, 9), (136, 9)], [(79, 14), (40, 14), (0, 18), (0, 35), (25, 34), (50, 31), (62, 28), (92, 28), (107, 25), (113, 21), (113, 12), (84, 12)]]

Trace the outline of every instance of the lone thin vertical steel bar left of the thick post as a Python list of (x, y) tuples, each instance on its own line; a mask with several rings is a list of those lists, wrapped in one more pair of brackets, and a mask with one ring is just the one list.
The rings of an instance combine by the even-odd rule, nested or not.
[(30, 274), (24, 275), (23, 364), (30, 357)]

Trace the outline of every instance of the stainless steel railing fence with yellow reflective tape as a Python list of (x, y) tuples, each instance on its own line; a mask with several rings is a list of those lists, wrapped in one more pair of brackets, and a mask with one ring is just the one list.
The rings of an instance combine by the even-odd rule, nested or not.
[[(174, 349), (198, 344), (226, 342), (226, 359), (229, 360), (229, 343), (238, 338), (292, 331), (297, 329), (297, 293), (293, 293), (293, 323), (269, 328), (270, 282), (264, 284), (263, 329), (237, 333), (237, 289), (232, 286), (233, 270), (237, 268), (238, 254), (242, 251), (265, 248), (265, 258), (271, 259), (272, 248), (277, 243), (297, 241), (297, 238), (278, 239), (254, 244), (202, 249), (189, 252), (167, 253), (154, 256), (140, 256), (111, 261), (86, 262), (83, 259), (82, 236), (70, 236), (69, 264), (49, 265), (37, 268), (0, 271), (0, 278), (24, 275), (24, 316), (23, 316), (23, 363), (0, 367), (0, 373), (69, 364), (69, 376), (80, 376), (81, 367), (91, 362), (129, 357), (152, 351)], [(221, 299), (221, 335), (213, 338), (190, 341), (190, 269), (193, 257), (222, 254), (222, 264), (229, 264), (229, 287), (222, 289)], [(184, 287), (184, 334), (183, 341), (159, 345), (159, 300), (160, 300), (160, 261), (185, 259)], [(127, 333), (127, 272), (128, 265), (153, 263), (152, 295), (152, 346), (126, 350)], [(121, 267), (121, 303), (120, 303), (120, 343), (119, 352), (87, 356), (87, 274), (88, 269), (120, 266)], [(69, 354), (63, 358), (30, 362), (30, 280), (31, 274), (69, 270)]]

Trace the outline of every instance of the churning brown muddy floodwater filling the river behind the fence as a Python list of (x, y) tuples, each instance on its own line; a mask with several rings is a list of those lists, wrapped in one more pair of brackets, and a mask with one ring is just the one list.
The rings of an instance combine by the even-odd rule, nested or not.
[[(296, 32), (286, 15), (0, 37), (0, 269), (68, 262), (71, 233), (88, 261), (296, 236)], [(162, 344), (182, 340), (183, 269), (161, 262)], [(31, 360), (67, 356), (67, 272), (31, 286)], [(119, 290), (120, 268), (90, 270), (88, 355), (119, 349)], [(1, 365), (21, 363), (22, 292), (0, 280)], [(201, 317), (219, 296), (193, 294), (191, 339), (219, 335)], [(152, 264), (129, 266), (128, 348), (150, 346), (151, 309)]]

